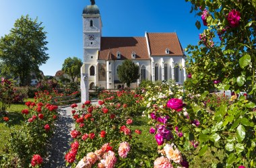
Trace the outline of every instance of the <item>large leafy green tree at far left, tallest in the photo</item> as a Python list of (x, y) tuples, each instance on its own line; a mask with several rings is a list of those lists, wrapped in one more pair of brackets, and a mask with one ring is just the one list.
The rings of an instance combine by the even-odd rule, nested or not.
[(22, 15), (10, 33), (0, 39), (0, 60), (11, 74), (20, 77), (21, 85), (30, 85), (30, 73), (39, 73), (40, 65), (49, 59), (46, 32), (37, 21)]

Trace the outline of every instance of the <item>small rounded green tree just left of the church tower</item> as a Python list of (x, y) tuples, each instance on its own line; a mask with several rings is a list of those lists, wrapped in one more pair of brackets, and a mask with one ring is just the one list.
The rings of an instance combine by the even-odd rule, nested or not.
[(75, 81), (75, 77), (79, 77), (80, 75), (80, 69), (83, 65), (83, 62), (81, 59), (77, 57), (69, 57), (64, 60), (64, 63), (62, 65), (62, 71), (67, 73), (72, 79), (72, 81)]

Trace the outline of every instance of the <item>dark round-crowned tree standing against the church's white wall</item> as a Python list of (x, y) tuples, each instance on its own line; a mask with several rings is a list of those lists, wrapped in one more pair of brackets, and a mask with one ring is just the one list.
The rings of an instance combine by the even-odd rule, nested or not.
[(118, 69), (118, 77), (121, 82), (126, 83), (130, 87), (131, 83), (139, 79), (139, 66), (135, 65), (131, 60), (125, 60)]

